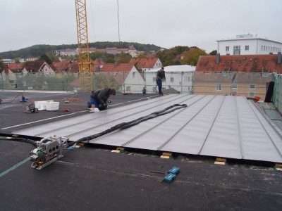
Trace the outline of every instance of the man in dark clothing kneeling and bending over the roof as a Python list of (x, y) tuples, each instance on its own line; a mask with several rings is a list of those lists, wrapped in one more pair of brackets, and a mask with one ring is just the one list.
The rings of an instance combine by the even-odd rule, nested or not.
[(92, 91), (90, 102), (87, 102), (88, 108), (99, 108), (99, 110), (106, 110), (108, 108), (108, 98), (110, 96), (116, 95), (115, 89), (100, 89), (96, 91)]

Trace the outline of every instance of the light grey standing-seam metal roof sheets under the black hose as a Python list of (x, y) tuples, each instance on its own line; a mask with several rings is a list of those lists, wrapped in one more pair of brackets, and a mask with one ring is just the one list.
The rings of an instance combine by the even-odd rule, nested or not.
[(76, 141), (173, 104), (166, 115), (90, 141), (91, 143), (223, 158), (282, 162), (282, 132), (243, 96), (171, 94), (99, 113), (13, 132), (27, 136), (68, 136)]

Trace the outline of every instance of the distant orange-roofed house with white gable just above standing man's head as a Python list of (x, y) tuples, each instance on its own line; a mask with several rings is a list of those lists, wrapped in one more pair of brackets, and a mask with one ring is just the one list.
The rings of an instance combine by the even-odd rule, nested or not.
[(159, 58), (132, 58), (130, 59), (129, 63), (136, 65), (136, 67), (142, 71), (162, 67), (162, 63)]

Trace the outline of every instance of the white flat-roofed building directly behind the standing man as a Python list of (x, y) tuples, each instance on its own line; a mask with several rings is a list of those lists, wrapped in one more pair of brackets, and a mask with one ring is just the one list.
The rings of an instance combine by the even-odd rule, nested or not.
[[(158, 93), (156, 82), (158, 70), (159, 68), (144, 72), (147, 93)], [(166, 73), (166, 81), (162, 84), (164, 93), (170, 89), (174, 89), (179, 93), (190, 93), (192, 91), (192, 77), (195, 70), (196, 67), (191, 65), (171, 65), (164, 67), (164, 72)]]

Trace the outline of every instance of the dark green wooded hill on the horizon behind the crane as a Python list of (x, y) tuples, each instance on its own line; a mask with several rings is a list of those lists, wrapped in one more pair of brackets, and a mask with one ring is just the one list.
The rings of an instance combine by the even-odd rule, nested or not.
[[(112, 41), (97, 41), (94, 43), (89, 43), (90, 48), (96, 49), (106, 49), (106, 48), (118, 48), (118, 49), (128, 49), (129, 46), (133, 45), (137, 51), (159, 51), (162, 49), (159, 46), (153, 44), (140, 44), (137, 42), (112, 42)], [(56, 50), (63, 49), (77, 49), (78, 44), (63, 44), (63, 45), (35, 45), (30, 46), (25, 49), (19, 49), (18, 51), (6, 51), (0, 53), (1, 58), (35, 58), (42, 56), (44, 53), (52, 53)]]

